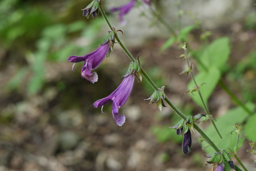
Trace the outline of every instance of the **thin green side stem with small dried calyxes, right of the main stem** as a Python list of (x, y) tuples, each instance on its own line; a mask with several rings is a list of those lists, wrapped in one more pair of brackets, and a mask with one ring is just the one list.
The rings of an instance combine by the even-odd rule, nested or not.
[[(186, 44), (186, 46), (187, 46), (187, 44)], [(200, 96), (200, 99), (201, 99), (201, 101), (202, 101), (202, 103), (203, 103), (204, 110), (206, 111), (207, 115), (209, 116), (209, 118), (210, 118), (210, 120), (211, 120), (211, 123), (212, 123), (212, 125), (214, 126), (216, 132), (218, 133), (219, 137), (222, 139), (221, 133), (219, 132), (217, 126), (216, 126), (215, 123), (214, 123), (214, 120), (213, 120), (213, 118), (212, 118), (212, 115), (210, 114), (210, 111), (209, 111), (209, 109), (208, 109), (208, 106), (206, 105), (206, 103), (204, 103), (204, 99), (203, 99), (203, 96), (202, 96), (202, 94), (201, 94), (200, 87), (199, 87), (199, 86), (197, 85), (197, 83), (196, 83), (196, 79), (195, 79), (195, 76), (194, 76), (194, 73), (193, 73), (192, 66), (190, 66), (190, 63), (189, 63), (187, 47), (184, 48), (184, 54), (185, 54), (185, 59), (186, 59), (186, 61), (187, 61), (188, 67), (191, 67), (191, 70), (190, 70), (189, 72), (190, 72), (191, 77), (192, 77), (192, 79), (193, 79), (193, 81), (194, 81), (194, 84), (195, 84), (195, 86), (196, 86), (196, 88), (197, 88), (197, 92), (198, 92), (198, 94), (199, 94), (199, 96)]]

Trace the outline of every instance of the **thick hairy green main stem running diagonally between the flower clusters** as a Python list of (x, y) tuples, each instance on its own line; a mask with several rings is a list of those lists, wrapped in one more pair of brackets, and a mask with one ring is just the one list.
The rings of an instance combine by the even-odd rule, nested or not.
[[(99, 5), (99, 10), (101, 11), (101, 14), (103, 16), (103, 18), (105, 19), (106, 23), (108, 24), (109, 28), (113, 31), (113, 27), (111, 26), (111, 24), (109, 23), (109, 20), (102, 8), (101, 5)], [(131, 61), (135, 62), (135, 59), (133, 58), (133, 56), (131, 55), (131, 53), (125, 48), (125, 46), (123, 45), (123, 43), (120, 41), (120, 39), (118, 38), (117, 34), (115, 34), (115, 38), (117, 40), (117, 42), (120, 44), (120, 46), (122, 47), (122, 49), (124, 50), (124, 52), (127, 54), (127, 56), (131, 59)], [(154, 90), (158, 90), (158, 87), (155, 85), (155, 83), (150, 79), (150, 77), (146, 74), (146, 72), (141, 68), (141, 72), (142, 75), (145, 77), (145, 79), (148, 81), (148, 83), (154, 88)], [(167, 98), (165, 97), (165, 101), (166, 103), (169, 104), (170, 107), (172, 107), (172, 109), (182, 118), (182, 119), (187, 119), (187, 117), (181, 113), (181, 111), (174, 106), (174, 104)], [(203, 132), (202, 129), (200, 129), (196, 123), (193, 123), (194, 128), (204, 137), (204, 139), (211, 145), (212, 148), (214, 148), (214, 150), (216, 152), (220, 152), (219, 148), (214, 144), (214, 142)], [(239, 170), (237, 170), (239, 171)]]

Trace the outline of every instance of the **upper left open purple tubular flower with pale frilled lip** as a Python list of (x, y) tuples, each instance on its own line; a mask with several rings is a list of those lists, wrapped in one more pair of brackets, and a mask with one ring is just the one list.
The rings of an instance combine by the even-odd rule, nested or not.
[(87, 54), (86, 56), (69, 56), (68, 61), (75, 63), (84, 61), (81, 76), (91, 83), (97, 82), (98, 75), (96, 72), (91, 73), (91, 70), (96, 69), (99, 64), (101, 64), (110, 49), (109, 46), (110, 42), (106, 42), (104, 45), (99, 46), (98, 49), (94, 50), (92, 53)]

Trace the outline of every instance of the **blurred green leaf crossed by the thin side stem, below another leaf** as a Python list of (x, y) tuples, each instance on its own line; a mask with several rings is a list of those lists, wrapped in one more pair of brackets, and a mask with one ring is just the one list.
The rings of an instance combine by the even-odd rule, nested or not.
[[(221, 77), (221, 73), (217, 68), (214, 68), (214, 67), (210, 68), (207, 72), (201, 71), (195, 76), (195, 80), (198, 86), (200, 86), (203, 83), (206, 83), (202, 85), (202, 87), (200, 88), (201, 94), (206, 104), (210, 95), (212, 94), (212, 91), (216, 87), (220, 77)], [(193, 80), (191, 80), (188, 84), (188, 90), (191, 90), (191, 88), (193, 87), (195, 87), (195, 84)], [(196, 102), (199, 106), (203, 107), (202, 101), (197, 92), (193, 92), (193, 94), (189, 93), (189, 95), (194, 100), (194, 102)]]

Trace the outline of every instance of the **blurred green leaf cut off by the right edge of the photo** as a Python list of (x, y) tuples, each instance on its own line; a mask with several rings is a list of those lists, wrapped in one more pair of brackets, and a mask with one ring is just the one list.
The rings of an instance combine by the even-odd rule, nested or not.
[(244, 133), (248, 140), (256, 141), (256, 115), (253, 115), (244, 126)]

